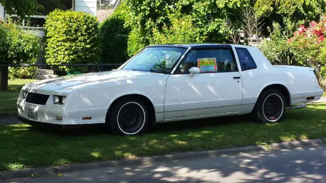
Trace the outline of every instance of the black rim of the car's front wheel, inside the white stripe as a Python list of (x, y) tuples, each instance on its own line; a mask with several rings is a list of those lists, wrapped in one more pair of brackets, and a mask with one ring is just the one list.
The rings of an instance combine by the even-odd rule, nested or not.
[(140, 104), (130, 102), (123, 105), (118, 113), (120, 130), (126, 134), (134, 134), (140, 131), (144, 124), (144, 109)]

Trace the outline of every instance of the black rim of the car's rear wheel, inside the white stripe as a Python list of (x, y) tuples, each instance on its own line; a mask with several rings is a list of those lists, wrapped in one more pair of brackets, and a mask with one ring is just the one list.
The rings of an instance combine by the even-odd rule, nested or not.
[(279, 95), (269, 95), (263, 104), (263, 113), (266, 119), (275, 121), (280, 118), (283, 113), (283, 101)]

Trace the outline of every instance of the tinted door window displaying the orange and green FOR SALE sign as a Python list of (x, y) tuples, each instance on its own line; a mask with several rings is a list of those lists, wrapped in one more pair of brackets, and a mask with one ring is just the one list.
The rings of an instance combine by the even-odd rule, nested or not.
[(230, 49), (191, 50), (182, 60), (176, 74), (188, 74), (192, 67), (199, 67), (201, 73), (219, 73), (237, 71)]

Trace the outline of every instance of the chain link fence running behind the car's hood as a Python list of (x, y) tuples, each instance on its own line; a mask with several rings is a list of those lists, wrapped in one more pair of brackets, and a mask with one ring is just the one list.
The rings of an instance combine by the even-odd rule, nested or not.
[(9, 71), (9, 89), (20, 90), (37, 80), (117, 69), (121, 64), (0, 65)]

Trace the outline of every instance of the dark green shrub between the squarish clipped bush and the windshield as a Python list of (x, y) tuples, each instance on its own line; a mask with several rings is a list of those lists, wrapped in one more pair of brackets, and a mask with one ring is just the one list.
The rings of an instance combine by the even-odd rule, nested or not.
[(126, 6), (121, 4), (100, 24), (101, 63), (123, 63), (128, 59), (127, 41), (130, 28), (125, 27)]

